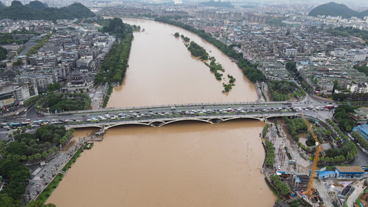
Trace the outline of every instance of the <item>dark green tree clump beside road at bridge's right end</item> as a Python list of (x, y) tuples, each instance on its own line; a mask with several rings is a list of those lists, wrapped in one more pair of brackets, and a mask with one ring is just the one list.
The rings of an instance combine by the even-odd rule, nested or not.
[(338, 121), (338, 125), (340, 128), (351, 132), (354, 126), (356, 126), (355, 122), (350, 119), (350, 112), (354, 112), (356, 107), (350, 106), (348, 104), (340, 104), (338, 108), (335, 109), (335, 114), (333, 117)]

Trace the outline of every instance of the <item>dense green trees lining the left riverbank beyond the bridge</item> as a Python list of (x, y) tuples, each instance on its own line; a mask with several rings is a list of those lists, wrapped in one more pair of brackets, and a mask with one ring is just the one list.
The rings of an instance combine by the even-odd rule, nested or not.
[(95, 77), (95, 83), (119, 83), (122, 84), (126, 68), (128, 67), (128, 57), (133, 35), (126, 35), (124, 41), (115, 43), (104, 60), (101, 69)]

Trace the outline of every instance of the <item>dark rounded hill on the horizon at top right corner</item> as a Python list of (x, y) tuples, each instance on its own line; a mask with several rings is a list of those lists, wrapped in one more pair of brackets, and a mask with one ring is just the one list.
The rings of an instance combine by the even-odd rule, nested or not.
[(365, 17), (368, 14), (368, 10), (364, 12), (357, 12), (355, 10), (351, 10), (344, 4), (339, 3), (325, 3), (316, 8), (313, 8), (311, 12), (309, 12), (309, 16), (317, 17), (317, 15), (325, 15), (331, 17), (341, 16), (342, 18), (350, 18), (350, 17)]

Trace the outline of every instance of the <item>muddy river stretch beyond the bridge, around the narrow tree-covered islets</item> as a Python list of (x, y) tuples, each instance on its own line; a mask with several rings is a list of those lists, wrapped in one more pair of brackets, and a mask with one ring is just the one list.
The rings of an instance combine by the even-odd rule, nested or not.
[[(144, 28), (135, 32), (129, 68), (122, 86), (115, 87), (107, 107), (157, 106), (181, 103), (218, 103), (255, 101), (255, 86), (229, 57), (197, 34), (165, 23), (143, 19), (123, 19)], [(215, 57), (225, 69), (224, 81), (217, 81), (209, 67), (191, 56), (179, 32), (195, 41)], [(210, 52), (211, 51), (211, 52)], [(222, 94), (227, 75), (235, 77), (235, 86)]]

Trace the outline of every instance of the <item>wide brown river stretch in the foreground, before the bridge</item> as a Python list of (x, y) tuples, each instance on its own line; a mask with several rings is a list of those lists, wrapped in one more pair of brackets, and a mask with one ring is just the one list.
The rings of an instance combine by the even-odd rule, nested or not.
[[(57, 206), (271, 206), (260, 121), (111, 128), (52, 193)], [(190, 129), (190, 130), (188, 130)]]

